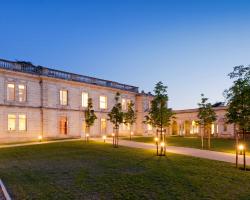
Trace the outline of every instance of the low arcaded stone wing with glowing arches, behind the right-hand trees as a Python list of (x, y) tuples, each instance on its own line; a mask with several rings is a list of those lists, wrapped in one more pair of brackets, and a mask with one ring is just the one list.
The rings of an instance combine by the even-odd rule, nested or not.
[[(211, 134), (214, 137), (234, 137), (234, 127), (226, 123), (226, 107), (213, 107), (217, 120), (211, 125)], [(198, 109), (175, 110), (175, 119), (171, 123), (170, 133), (172, 135), (194, 136), (201, 135), (201, 128), (196, 123), (198, 120)]]

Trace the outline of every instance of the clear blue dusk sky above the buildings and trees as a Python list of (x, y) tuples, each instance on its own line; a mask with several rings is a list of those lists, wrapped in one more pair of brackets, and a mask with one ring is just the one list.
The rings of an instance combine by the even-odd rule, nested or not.
[(152, 91), (174, 109), (223, 101), (250, 64), (250, 1), (0, 0), (0, 57)]

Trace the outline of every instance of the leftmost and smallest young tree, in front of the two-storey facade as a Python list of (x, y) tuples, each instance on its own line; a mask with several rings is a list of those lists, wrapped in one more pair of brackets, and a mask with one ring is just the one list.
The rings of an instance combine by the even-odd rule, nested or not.
[[(92, 98), (88, 99), (88, 107), (84, 112), (85, 114), (85, 126), (86, 126), (86, 133), (90, 133), (90, 127), (94, 125), (95, 120), (97, 119), (95, 115), (95, 111), (93, 109), (93, 103), (92, 103)], [(86, 137), (85, 133), (85, 137)]]

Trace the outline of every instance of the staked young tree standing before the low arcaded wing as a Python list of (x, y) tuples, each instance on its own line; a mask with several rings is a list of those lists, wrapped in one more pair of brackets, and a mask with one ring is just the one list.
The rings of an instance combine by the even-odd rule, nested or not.
[(212, 108), (212, 104), (208, 103), (208, 98), (204, 97), (204, 94), (201, 94), (201, 102), (198, 103), (199, 112), (197, 121), (203, 131), (201, 131), (201, 146), (204, 147), (204, 136), (207, 135), (207, 147), (210, 149), (211, 146), (211, 126), (212, 123), (216, 121), (216, 114)]

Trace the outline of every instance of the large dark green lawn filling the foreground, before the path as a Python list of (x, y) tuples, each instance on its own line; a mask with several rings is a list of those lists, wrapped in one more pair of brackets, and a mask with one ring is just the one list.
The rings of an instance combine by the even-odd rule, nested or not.
[(249, 199), (250, 172), (176, 154), (82, 141), (0, 149), (13, 199)]

